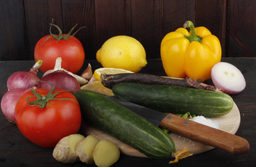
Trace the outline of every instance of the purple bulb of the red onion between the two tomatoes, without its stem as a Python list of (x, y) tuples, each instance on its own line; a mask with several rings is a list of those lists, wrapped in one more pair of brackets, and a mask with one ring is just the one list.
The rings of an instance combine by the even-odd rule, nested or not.
[[(45, 75), (41, 78), (41, 81), (49, 82), (54, 86), (55, 89), (64, 89), (70, 90), (71, 93), (75, 93), (78, 90), (81, 90), (80, 84), (78, 81), (72, 77), (70, 74), (67, 74), (63, 71), (56, 71), (50, 74)], [(36, 87), (37, 88), (46, 88), (51, 90), (51, 86), (45, 82), (39, 82)]]

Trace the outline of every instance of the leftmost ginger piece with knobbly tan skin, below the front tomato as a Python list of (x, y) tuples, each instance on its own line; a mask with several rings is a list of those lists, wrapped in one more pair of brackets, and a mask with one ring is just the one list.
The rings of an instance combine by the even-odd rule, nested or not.
[(82, 141), (85, 136), (81, 134), (71, 134), (62, 138), (55, 146), (52, 156), (63, 163), (73, 163), (79, 160), (76, 155), (76, 144)]

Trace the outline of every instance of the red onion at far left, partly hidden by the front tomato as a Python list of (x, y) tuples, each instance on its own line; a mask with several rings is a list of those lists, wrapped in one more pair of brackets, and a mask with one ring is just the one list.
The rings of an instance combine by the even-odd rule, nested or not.
[(30, 88), (15, 88), (9, 90), (3, 95), (3, 98), (1, 100), (1, 110), (3, 111), (3, 115), (6, 116), (7, 120), (9, 120), (10, 122), (16, 123), (14, 111), (17, 100), (19, 100), (20, 97), (22, 97), (22, 95), (24, 95), (24, 93), (27, 93), (29, 90)]

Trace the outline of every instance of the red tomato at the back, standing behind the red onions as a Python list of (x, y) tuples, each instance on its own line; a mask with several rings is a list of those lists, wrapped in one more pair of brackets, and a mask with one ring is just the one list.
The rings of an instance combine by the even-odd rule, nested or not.
[(39, 69), (42, 72), (52, 70), (55, 67), (56, 58), (62, 57), (62, 68), (74, 74), (78, 72), (85, 61), (85, 51), (78, 38), (72, 37), (69, 40), (57, 41), (51, 36), (46, 40), (49, 36), (51, 35), (44, 36), (36, 43), (35, 61), (43, 61)]

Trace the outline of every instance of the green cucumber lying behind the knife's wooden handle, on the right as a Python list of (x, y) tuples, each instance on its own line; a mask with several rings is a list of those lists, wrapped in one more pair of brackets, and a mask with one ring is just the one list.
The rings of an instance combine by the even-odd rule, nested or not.
[(116, 97), (164, 113), (187, 113), (196, 116), (219, 117), (232, 110), (232, 97), (225, 93), (180, 86), (115, 84)]

